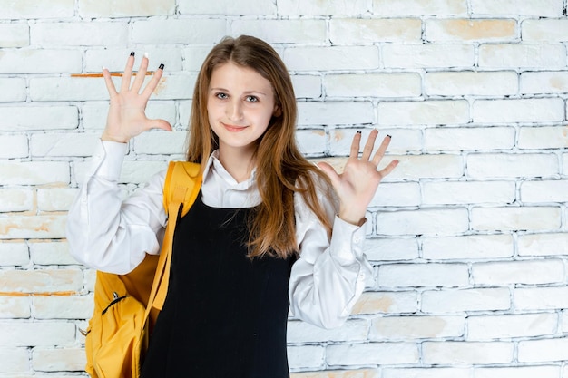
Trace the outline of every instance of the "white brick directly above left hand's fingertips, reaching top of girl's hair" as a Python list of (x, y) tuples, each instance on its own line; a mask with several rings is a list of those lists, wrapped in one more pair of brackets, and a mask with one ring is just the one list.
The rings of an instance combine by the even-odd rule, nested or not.
[[(160, 33), (156, 33), (159, 30)], [(132, 44), (215, 44), (227, 34), (222, 19), (148, 19), (132, 24)]]

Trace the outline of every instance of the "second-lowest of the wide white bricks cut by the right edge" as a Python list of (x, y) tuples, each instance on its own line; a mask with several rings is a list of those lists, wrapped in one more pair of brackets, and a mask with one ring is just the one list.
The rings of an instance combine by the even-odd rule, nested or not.
[(568, 307), (568, 287), (515, 288), (514, 308), (517, 311), (553, 310)]

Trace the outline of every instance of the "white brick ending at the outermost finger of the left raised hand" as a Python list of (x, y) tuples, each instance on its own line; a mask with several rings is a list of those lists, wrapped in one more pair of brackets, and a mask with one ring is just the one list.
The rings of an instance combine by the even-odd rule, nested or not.
[(33, 102), (92, 101), (109, 97), (101, 78), (37, 77), (30, 79)]

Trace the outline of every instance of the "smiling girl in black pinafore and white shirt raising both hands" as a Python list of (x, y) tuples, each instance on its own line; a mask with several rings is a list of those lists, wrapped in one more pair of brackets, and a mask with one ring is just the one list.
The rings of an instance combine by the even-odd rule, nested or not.
[[(126, 142), (152, 128), (144, 110), (163, 65), (143, 87), (147, 57), (133, 53), (101, 142), (69, 212), (73, 256), (126, 273), (160, 250), (167, 218), (164, 172), (122, 202), (117, 186)], [(313, 325), (342, 325), (372, 279), (362, 252), (365, 213), (390, 137), (361, 157), (360, 132), (342, 174), (305, 160), (295, 141), (296, 102), (279, 55), (250, 36), (225, 38), (201, 66), (193, 94), (187, 160), (201, 163), (201, 193), (177, 224), (168, 296), (142, 377), (289, 377), (289, 312)]]

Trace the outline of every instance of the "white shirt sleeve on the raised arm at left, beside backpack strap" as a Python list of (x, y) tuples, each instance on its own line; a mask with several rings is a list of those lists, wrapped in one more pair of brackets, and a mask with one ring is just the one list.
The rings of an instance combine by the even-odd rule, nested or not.
[(162, 202), (165, 171), (122, 201), (118, 180), (125, 152), (126, 144), (99, 141), (66, 225), (75, 259), (116, 274), (132, 271), (146, 253), (160, 252), (167, 221)]

